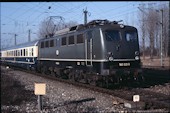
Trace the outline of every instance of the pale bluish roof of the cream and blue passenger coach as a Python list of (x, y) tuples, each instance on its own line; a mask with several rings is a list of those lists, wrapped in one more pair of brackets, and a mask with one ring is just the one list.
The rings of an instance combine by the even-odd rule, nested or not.
[(18, 49), (18, 48), (24, 48), (24, 47), (30, 47), (30, 46), (37, 46), (38, 42), (39, 42), (39, 40), (35, 40), (35, 41), (31, 41), (31, 42), (26, 42), (26, 43), (22, 43), (22, 44), (19, 44), (19, 45), (12, 46), (12, 47), (4, 48), (1, 51), (11, 50), (11, 49)]

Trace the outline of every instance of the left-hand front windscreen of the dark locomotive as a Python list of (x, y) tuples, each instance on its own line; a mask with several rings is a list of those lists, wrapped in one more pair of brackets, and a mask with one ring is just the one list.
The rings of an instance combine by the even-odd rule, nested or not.
[(117, 30), (106, 30), (105, 36), (107, 41), (120, 41), (120, 34)]

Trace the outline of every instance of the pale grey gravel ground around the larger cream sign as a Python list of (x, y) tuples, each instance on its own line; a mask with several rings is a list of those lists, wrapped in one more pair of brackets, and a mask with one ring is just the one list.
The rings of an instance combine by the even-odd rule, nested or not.
[[(1, 67), (4, 70), (4, 67)], [(111, 95), (102, 94), (89, 89), (79, 88), (66, 83), (45, 79), (21, 71), (5, 69), (6, 73), (20, 81), (26, 90), (34, 92), (34, 83), (46, 83), (46, 95), (43, 96), (43, 113), (67, 112), (127, 112), (123, 106), (125, 100)], [(165, 87), (170, 89), (170, 84)], [(153, 88), (155, 89), (155, 88)], [(160, 88), (162, 89), (162, 88)], [(155, 89), (157, 90), (157, 89)], [(169, 90), (170, 91), (170, 90)], [(167, 91), (166, 91), (167, 92)], [(36, 99), (35, 99), (36, 100)], [(1, 106), (1, 109), (11, 109), (13, 112), (37, 113), (37, 101), (25, 102), (20, 106)], [(139, 110), (147, 112), (148, 110)], [(149, 110), (148, 112), (163, 112), (164, 110)], [(131, 111), (132, 112), (132, 111)]]

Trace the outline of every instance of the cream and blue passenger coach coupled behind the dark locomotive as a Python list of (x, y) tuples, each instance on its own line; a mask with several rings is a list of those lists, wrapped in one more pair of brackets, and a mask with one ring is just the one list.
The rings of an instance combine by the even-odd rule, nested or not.
[(38, 56), (38, 41), (16, 45), (1, 50), (2, 63), (35, 69)]

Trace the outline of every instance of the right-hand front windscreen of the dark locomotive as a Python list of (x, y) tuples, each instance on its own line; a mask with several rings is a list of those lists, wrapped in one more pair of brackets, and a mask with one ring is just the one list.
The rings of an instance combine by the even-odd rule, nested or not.
[(137, 41), (137, 33), (133, 31), (125, 32), (125, 38), (126, 38), (126, 41), (128, 42)]

